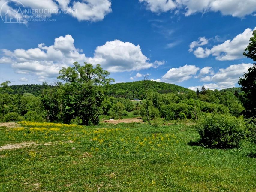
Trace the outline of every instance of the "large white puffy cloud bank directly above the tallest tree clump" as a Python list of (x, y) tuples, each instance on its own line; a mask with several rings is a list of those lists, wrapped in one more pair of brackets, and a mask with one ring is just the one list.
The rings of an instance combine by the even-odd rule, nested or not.
[[(37, 48), (2, 49), (3, 57), (0, 63), (11, 64), (16, 73), (36, 75), (43, 81), (58, 76), (61, 67), (71, 66), (74, 62), (83, 64), (84, 61), (101, 66), (110, 72), (138, 71), (150, 67), (158, 67), (164, 61), (150, 62), (143, 55), (140, 46), (120, 40), (108, 41), (95, 49), (93, 57), (86, 57), (74, 45), (71, 35), (55, 38), (54, 44), (46, 46), (38, 44)], [(140, 77), (137, 73), (136, 77)], [(141, 75), (142, 76), (142, 75)]]

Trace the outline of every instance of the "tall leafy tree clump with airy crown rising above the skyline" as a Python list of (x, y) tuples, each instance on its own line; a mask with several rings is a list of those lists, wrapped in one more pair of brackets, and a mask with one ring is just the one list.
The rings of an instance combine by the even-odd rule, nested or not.
[[(83, 125), (99, 123), (99, 115), (103, 113), (104, 90), (102, 85), (109, 85), (114, 81), (108, 78), (110, 73), (97, 64), (94, 67), (84, 62), (80, 65), (75, 62), (74, 67), (62, 67), (57, 78), (65, 81), (59, 91), (61, 103), (61, 117), (68, 123), (74, 117), (82, 119)], [(105, 86), (107, 87), (107, 86)]]

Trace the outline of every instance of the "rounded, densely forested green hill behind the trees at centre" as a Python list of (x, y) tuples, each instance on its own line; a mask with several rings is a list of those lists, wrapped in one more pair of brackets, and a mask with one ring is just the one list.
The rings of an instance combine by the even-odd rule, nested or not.
[[(192, 90), (163, 82), (147, 81), (147, 88), (150, 91), (157, 91), (160, 94), (164, 93), (189, 93)], [(116, 83), (110, 85), (109, 96), (124, 97), (124, 98), (143, 98), (143, 92), (145, 92), (144, 81), (134, 81), (126, 83)]]

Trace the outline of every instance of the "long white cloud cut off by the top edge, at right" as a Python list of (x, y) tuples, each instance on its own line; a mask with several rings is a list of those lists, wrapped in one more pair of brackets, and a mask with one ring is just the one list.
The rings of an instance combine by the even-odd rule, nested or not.
[(194, 13), (221, 12), (222, 15), (232, 15), (243, 18), (256, 11), (254, 0), (139, 0), (154, 13), (179, 11), (185, 16)]

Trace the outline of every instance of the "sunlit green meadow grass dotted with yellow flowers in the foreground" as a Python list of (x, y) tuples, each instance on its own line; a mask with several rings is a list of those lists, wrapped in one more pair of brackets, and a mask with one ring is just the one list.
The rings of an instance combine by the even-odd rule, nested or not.
[(251, 146), (192, 146), (199, 135), (190, 126), (24, 127), (0, 127), (0, 146), (40, 143), (0, 151), (0, 191), (255, 191), (256, 161), (246, 156)]

